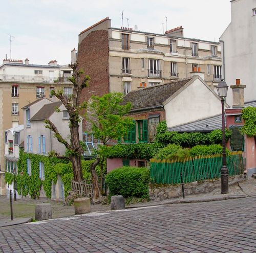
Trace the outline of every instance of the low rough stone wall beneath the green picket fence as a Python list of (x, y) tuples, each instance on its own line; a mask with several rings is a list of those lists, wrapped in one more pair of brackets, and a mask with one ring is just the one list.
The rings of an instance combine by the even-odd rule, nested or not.
[[(244, 180), (244, 175), (229, 176), (229, 185)], [(193, 193), (210, 192), (221, 187), (221, 179), (209, 179), (184, 184), (185, 196)], [(178, 198), (182, 196), (181, 185), (157, 185), (151, 184), (149, 189), (150, 200)]]

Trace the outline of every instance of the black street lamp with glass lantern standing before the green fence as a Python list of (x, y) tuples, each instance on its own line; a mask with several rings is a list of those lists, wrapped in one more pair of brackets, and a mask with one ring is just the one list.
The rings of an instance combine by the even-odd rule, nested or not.
[(227, 97), (228, 86), (226, 82), (221, 79), (217, 86), (218, 95), (221, 98), (222, 105), (222, 168), (221, 168), (221, 193), (228, 193), (228, 169), (226, 159), (226, 139), (225, 139), (225, 119), (224, 119), (224, 103)]

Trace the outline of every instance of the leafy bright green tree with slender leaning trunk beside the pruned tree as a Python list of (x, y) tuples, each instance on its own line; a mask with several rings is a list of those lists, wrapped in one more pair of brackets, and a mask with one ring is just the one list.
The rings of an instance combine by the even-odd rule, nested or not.
[(94, 199), (100, 201), (101, 193), (95, 167), (104, 160), (106, 143), (125, 135), (134, 123), (131, 118), (123, 117), (131, 110), (131, 103), (122, 104), (123, 95), (121, 93), (109, 93), (102, 97), (92, 96), (91, 99), (88, 121), (91, 122), (91, 133), (101, 141), (102, 146), (97, 151), (95, 162), (90, 169), (93, 179)]

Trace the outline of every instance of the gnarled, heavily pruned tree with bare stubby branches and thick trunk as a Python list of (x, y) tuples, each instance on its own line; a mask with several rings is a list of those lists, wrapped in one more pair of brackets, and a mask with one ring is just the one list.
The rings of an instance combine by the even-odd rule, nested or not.
[(51, 91), (51, 95), (58, 98), (69, 113), (69, 128), (70, 128), (70, 141), (65, 140), (57, 127), (48, 119), (46, 120), (46, 127), (54, 132), (57, 140), (64, 144), (68, 149), (69, 158), (71, 160), (73, 172), (74, 172), (74, 180), (82, 181), (82, 166), (81, 166), (81, 156), (83, 154), (83, 149), (80, 145), (79, 140), (79, 123), (81, 121), (80, 114), (81, 112), (87, 108), (87, 102), (81, 102), (81, 91), (83, 88), (86, 88), (89, 85), (90, 77), (88, 75), (84, 75), (84, 72), (78, 69), (78, 62), (75, 64), (69, 65), (73, 69), (72, 77), (70, 77), (70, 81), (73, 83), (73, 95), (65, 95), (63, 93), (63, 89), (58, 90), (57, 93), (55, 90)]

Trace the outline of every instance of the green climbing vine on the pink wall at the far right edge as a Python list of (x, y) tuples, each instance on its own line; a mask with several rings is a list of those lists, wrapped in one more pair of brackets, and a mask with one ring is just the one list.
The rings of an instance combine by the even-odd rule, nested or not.
[(256, 136), (256, 107), (246, 107), (242, 110), (244, 126), (241, 128), (242, 133), (249, 137)]

